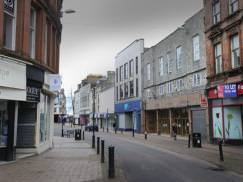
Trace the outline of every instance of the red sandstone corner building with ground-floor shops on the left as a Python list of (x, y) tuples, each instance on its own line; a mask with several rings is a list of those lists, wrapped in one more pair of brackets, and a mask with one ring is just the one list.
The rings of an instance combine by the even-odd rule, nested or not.
[(0, 160), (52, 146), (61, 7), (62, 0), (0, 3)]

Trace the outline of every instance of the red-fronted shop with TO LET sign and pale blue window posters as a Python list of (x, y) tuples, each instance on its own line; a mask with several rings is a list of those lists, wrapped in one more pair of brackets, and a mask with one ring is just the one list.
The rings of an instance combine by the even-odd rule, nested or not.
[(213, 142), (243, 143), (243, 83), (220, 85), (209, 90), (210, 134)]

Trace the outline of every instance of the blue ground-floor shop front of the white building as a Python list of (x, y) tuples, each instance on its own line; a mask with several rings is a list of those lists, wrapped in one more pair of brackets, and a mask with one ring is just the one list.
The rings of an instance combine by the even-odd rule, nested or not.
[(141, 132), (141, 101), (129, 101), (115, 104), (115, 112), (118, 116), (118, 130)]

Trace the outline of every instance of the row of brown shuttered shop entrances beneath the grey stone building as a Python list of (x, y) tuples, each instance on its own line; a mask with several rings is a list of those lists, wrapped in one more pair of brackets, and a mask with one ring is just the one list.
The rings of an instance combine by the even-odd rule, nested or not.
[(148, 133), (188, 136), (189, 133), (200, 133), (207, 138), (207, 110), (200, 106), (147, 110), (145, 126)]

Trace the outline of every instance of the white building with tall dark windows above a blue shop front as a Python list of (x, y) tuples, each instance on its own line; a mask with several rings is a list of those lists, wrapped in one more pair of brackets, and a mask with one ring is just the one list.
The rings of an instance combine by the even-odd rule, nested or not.
[(141, 59), (144, 40), (135, 40), (115, 57), (115, 113), (119, 130), (141, 131)]

